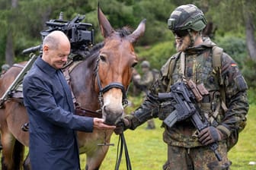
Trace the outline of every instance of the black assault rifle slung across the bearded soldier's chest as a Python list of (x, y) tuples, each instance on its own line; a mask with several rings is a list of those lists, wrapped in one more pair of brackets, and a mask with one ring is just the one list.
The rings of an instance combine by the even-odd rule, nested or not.
[[(201, 84), (200, 89), (201, 90), (198, 90), (197, 85), (192, 80), (189, 80), (187, 84), (184, 82), (174, 83), (171, 86), (170, 93), (158, 93), (158, 99), (160, 101), (174, 99), (176, 102), (174, 111), (164, 120), (169, 128), (171, 128), (176, 121), (183, 121), (187, 118), (190, 118), (198, 131), (202, 131), (204, 128), (210, 126), (206, 118), (202, 118), (200, 115), (201, 110), (197, 105), (197, 102), (203, 99), (202, 95), (207, 94), (208, 91), (203, 87), (203, 84)], [(218, 144), (211, 143), (209, 147), (210, 150), (213, 150), (217, 159), (221, 161), (222, 158), (217, 151)]]

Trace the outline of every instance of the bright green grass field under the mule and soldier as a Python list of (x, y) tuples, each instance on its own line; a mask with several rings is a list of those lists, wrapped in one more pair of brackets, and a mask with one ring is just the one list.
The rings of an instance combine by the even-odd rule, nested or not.
[[(239, 136), (237, 145), (229, 152), (229, 159), (232, 161), (232, 170), (255, 170), (256, 165), (249, 165), (249, 162), (256, 162), (256, 105), (251, 105), (248, 113), (248, 124)], [(160, 128), (161, 121), (155, 119), (156, 129), (146, 130), (146, 124), (142, 124), (135, 131), (125, 131), (126, 143), (128, 146), (130, 160), (133, 170), (162, 169), (166, 160), (166, 145), (162, 141), (163, 129)], [(114, 169), (117, 159), (118, 136), (113, 134), (111, 143), (101, 170)], [(82, 169), (85, 168), (85, 155), (81, 155)], [(126, 162), (123, 159), (120, 170), (126, 169)]]

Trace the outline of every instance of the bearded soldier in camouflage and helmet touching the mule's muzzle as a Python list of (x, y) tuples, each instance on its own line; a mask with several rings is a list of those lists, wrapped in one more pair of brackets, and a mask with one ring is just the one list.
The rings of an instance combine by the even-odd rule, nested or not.
[[(228, 150), (245, 128), (249, 107), (247, 83), (238, 65), (225, 52), (219, 53), (219, 69), (213, 68), (216, 44), (201, 36), (204, 27), (206, 19), (195, 5), (181, 5), (171, 13), (168, 28), (174, 33), (178, 53), (162, 67), (160, 77), (142, 105), (123, 117), (115, 130), (116, 134), (127, 128), (134, 130), (150, 118), (164, 120), (174, 105), (160, 103), (159, 92), (169, 92), (171, 84), (178, 81), (203, 83), (209, 95), (198, 105), (210, 126), (198, 134), (190, 119), (176, 122), (172, 128), (163, 123), (163, 140), (168, 145), (168, 159), (163, 169), (229, 169), (232, 162), (227, 157)], [(210, 143), (218, 143), (221, 161), (210, 150)]]

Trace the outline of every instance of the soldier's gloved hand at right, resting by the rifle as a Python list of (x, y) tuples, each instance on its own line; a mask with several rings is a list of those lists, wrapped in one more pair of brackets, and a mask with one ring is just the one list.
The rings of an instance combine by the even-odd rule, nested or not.
[(198, 134), (198, 140), (205, 146), (209, 145), (210, 143), (215, 143), (220, 140), (223, 140), (223, 137), (224, 135), (222, 134), (222, 132), (213, 126), (204, 128)]

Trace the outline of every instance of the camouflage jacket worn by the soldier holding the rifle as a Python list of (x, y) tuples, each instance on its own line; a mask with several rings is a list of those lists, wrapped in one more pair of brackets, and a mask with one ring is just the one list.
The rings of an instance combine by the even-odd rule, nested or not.
[[(209, 103), (199, 103), (206, 118), (210, 118), (213, 112), (218, 112), (214, 117), (217, 128), (224, 132), (227, 137), (233, 131), (242, 131), (246, 124), (246, 115), (248, 113), (248, 98), (247, 98), (247, 84), (242, 77), (241, 72), (238, 70), (238, 65), (235, 61), (225, 52), (222, 53), (221, 62), (222, 68), (218, 76), (216, 71), (213, 70), (213, 57), (212, 48), (216, 46), (210, 39), (204, 39), (200, 46), (187, 49), (185, 52), (185, 71), (184, 76), (186, 79), (192, 79), (195, 83), (203, 83), (206, 89), (210, 92)], [(178, 57), (172, 75), (169, 75), (169, 68), (171, 59)], [(179, 54), (173, 55), (162, 66), (160, 77), (152, 85), (150, 93), (147, 95), (142, 105), (131, 113), (130, 119), (132, 121), (132, 128), (148, 120), (149, 118), (160, 118), (164, 120), (169, 113), (174, 110), (171, 102), (168, 105), (163, 105), (158, 101), (159, 92), (168, 92), (168, 85), (181, 80), (183, 73), (181, 71), (181, 60)], [(170, 78), (171, 77), (171, 78)], [(172, 80), (170, 83), (169, 81)], [(226, 93), (226, 112), (220, 105), (220, 83), (223, 81), (223, 88)], [(206, 107), (205, 107), (206, 105)], [(165, 127), (164, 140), (165, 143), (174, 146), (194, 147), (201, 146), (194, 137), (196, 128), (190, 120), (176, 122), (172, 128)]]

